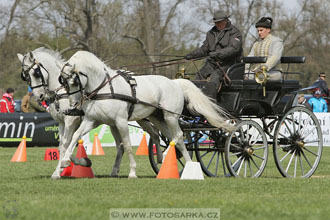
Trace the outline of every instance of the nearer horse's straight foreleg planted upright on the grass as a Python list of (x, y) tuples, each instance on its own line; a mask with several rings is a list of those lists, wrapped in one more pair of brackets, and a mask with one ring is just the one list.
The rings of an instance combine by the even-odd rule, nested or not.
[(133, 155), (133, 152), (132, 152), (132, 145), (131, 145), (131, 140), (129, 138), (127, 120), (117, 119), (116, 120), (116, 127), (118, 129), (118, 132), (120, 134), (120, 138), (123, 142), (124, 149), (127, 152), (129, 162), (130, 162), (130, 172), (129, 172), (128, 178), (137, 178), (137, 176), (136, 176), (136, 162), (134, 160), (134, 155)]

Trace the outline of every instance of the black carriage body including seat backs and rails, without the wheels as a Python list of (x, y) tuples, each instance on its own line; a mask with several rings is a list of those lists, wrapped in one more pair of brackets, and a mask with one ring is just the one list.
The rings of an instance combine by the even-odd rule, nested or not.
[[(263, 62), (265, 60), (263, 57), (257, 57), (252, 61)], [(304, 57), (282, 58), (282, 63), (288, 64), (303, 63), (304, 61)], [(256, 80), (244, 80), (244, 70), (245, 63), (231, 66), (227, 71), (231, 83), (223, 84), (219, 93), (216, 93), (212, 82), (195, 81), (195, 84), (205, 94), (216, 99), (217, 103), (234, 117), (280, 116), (292, 107), (296, 94), (301, 88), (298, 80), (268, 81), (265, 84), (264, 96), (262, 84), (257, 83)], [(288, 72), (284, 74), (288, 74)]]

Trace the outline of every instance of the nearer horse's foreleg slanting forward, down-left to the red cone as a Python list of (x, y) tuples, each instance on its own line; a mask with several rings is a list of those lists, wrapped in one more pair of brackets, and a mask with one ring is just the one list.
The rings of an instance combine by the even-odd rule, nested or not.
[(80, 124), (78, 130), (76, 132), (74, 132), (74, 134), (72, 136), (70, 145), (69, 145), (68, 149), (66, 150), (63, 159), (61, 160), (61, 168), (70, 166), (70, 164), (71, 164), (70, 157), (73, 153), (73, 150), (74, 150), (79, 138), (81, 138), (84, 134), (86, 134), (93, 128), (97, 127), (98, 125), (99, 125), (99, 123), (96, 123), (95, 121), (89, 121), (85, 116), (85, 118), (82, 121), (82, 123)]

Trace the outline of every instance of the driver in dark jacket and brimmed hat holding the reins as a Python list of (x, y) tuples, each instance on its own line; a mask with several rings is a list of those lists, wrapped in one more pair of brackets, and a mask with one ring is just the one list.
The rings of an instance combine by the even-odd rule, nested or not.
[(185, 59), (208, 56), (196, 79), (203, 80), (210, 77), (210, 81), (214, 82), (218, 89), (227, 69), (241, 60), (242, 35), (240, 30), (231, 24), (229, 15), (221, 10), (214, 13), (211, 22), (215, 26), (207, 32), (203, 45), (187, 54)]

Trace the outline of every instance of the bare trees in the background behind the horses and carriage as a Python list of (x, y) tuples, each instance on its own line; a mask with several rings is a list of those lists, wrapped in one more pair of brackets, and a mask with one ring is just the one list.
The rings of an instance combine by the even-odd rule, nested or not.
[[(69, 58), (88, 50), (113, 68), (172, 59), (199, 46), (211, 28), (212, 11), (222, 8), (240, 28), (245, 54), (254, 40), (256, 20), (274, 18), (274, 35), (285, 43), (284, 55), (306, 56), (306, 64), (293, 66), (311, 84), (320, 71), (327, 72), (330, 2), (297, 0), (287, 10), (279, 0), (8, 0), (0, 4), (0, 88), (13, 87), (21, 98), (26, 85), (20, 81), (16, 53), (43, 46)], [(157, 55), (157, 56), (156, 56)], [(201, 62), (198, 63), (201, 65)], [(187, 63), (189, 72), (195, 67)], [(173, 77), (179, 66), (140, 70)], [(330, 83), (330, 82), (328, 82)]]

